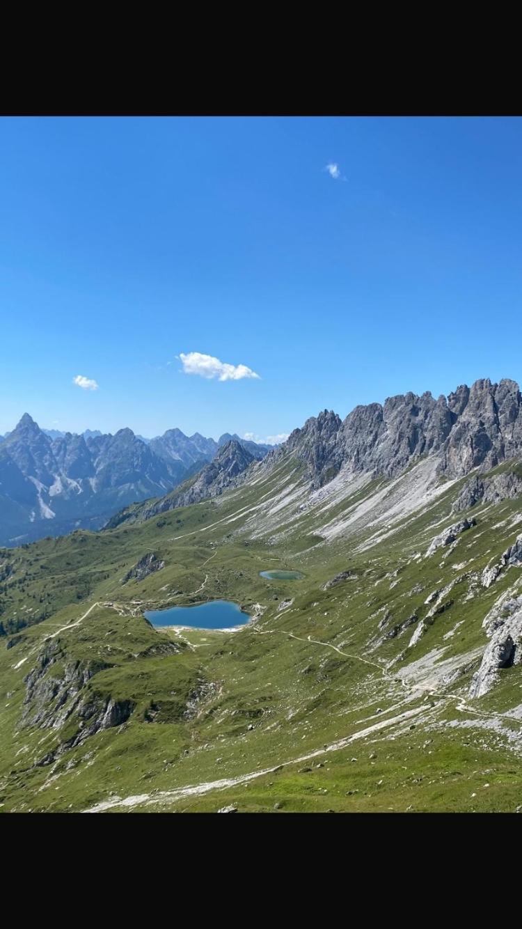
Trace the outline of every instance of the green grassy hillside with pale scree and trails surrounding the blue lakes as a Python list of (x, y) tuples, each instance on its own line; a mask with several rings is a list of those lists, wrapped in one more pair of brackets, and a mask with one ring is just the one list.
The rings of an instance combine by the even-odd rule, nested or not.
[[(453, 509), (469, 480), (425, 458), (310, 492), (288, 454), (214, 500), (0, 550), (1, 809), (520, 808), (522, 495)], [(215, 598), (252, 622), (143, 617)]]

